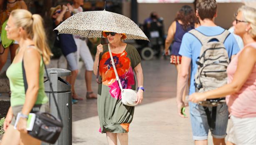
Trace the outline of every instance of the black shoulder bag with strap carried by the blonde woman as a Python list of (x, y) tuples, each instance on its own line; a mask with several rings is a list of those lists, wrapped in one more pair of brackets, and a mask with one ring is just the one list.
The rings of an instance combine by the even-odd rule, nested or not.
[[(45, 66), (44, 62), (43, 62), (43, 65)], [(23, 61), (22, 61), (22, 71), (23, 71), (23, 81), (24, 81), (25, 92), (26, 92), (28, 89), (28, 83), (27, 83), (27, 79), (26, 79)], [(47, 77), (50, 78), (48, 75), (46, 66), (45, 66), (45, 71), (46, 71)], [(53, 90), (51, 82), (50, 82), (50, 88), (51, 88), (51, 90)], [(62, 118), (60, 116), (60, 111), (57, 106), (54, 93), (53, 93), (53, 98), (54, 98), (53, 100), (56, 105), (60, 120), (55, 118), (50, 113), (36, 112), (35, 113), (35, 123), (34, 123), (33, 129), (32, 129), (32, 131), (28, 131), (28, 134), (31, 135), (33, 138), (36, 138), (38, 140), (42, 140), (46, 143), (51, 143), (51, 144), (54, 144), (58, 140), (61, 130), (63, 128)]]

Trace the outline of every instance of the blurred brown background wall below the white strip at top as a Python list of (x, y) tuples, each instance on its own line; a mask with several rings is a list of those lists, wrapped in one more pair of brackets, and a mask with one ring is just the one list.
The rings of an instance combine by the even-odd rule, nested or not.
[[(183, 5), (190, 5), (192, 3), (138, 3), (138, 22), (143, 21), (149, 17), (152, 11), (156, 11), (159, 16), (163, 17), (165, 31), (168, 31), (168, 27), (173, 22), (176, 12), (180, 10)], [(234, 14), (241, 7), (243, 3), (218, 3), (218, 17), (216, 18), (216, 24), (228, 29), (232, 26)], [(131, 4), (129, 2), (123, 3), (123, 15), (131, 16)]]

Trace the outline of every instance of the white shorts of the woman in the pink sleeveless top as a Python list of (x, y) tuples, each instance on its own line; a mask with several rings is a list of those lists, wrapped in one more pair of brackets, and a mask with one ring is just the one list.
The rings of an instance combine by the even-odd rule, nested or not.
[(256, 145), (256, 117), (238, 118), (231, 116), (232, 125), (228, 141), (236, 145)]

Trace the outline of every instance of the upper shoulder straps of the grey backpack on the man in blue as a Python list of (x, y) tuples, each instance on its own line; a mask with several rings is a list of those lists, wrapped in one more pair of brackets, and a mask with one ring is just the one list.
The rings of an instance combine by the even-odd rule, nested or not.
[(205, 34), (199, 32), (196, 29), (192, 29), (190, 30), (188, 33), (192, 34), (193, 36), (195, 36), (200, 42), (201, 44), (207, 44), (208, 42), (210, 42), (213, 39), (218, 39), (219, 42), (224, 43), (226, 38), (228, 37), (228, 35), (230, 34), (230, 32), (228, 30), (224, 30), (221, 34), (215, 35), (215, 36), (206, 36)]

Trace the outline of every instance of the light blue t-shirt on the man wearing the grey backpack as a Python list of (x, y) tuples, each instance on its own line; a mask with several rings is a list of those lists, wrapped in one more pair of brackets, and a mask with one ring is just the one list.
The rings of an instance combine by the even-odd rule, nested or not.
[[(207, 36), (215, 36), (221, 34), (225, 29), (221, 27), (206, 27), (206, 26), (200, 26), (196, 28), (199, 32), (207, 35)], [(231, 56), (234, 54), (237, 54), (239, 51), (238, 44), (236, 42), (236, 39), (232, 34), (229, 34), (224, 42), (224, 46), (227, 49), (228, 57), (231, 59)], [(197, 71), (197, 64), (196, 59), (200, 55), (202, 44), (201, 42), (192, 34), (186, 33), (183, 35), (182, 42), (181, 42), (181, 48), (179, 51), (179, 54), (181, 56), (185, 56), (188, 58), (191, 58), (191, 81), (190, 81), (190, 88), (189, 88), (189, 95), (192, 93), (195, 93), (195, 85), (194, 85), (194, 76)]]

